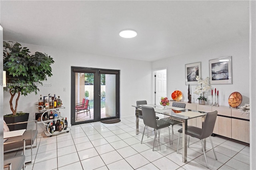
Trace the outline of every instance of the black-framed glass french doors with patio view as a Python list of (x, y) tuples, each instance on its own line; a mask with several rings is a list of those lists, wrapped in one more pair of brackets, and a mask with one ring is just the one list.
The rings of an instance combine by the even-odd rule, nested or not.
[(119, 73), (71, 67), (71, 125), (120, 118)]

